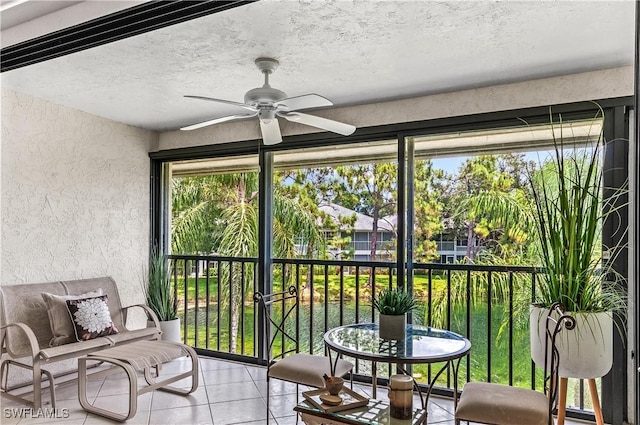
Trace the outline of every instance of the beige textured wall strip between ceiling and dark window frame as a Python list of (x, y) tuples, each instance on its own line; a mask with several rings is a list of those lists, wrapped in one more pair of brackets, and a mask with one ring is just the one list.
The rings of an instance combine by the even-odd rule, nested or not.
[[(412, 99), (315, 111), (313, 114), (348, 122), (357, 127), (368, 127), (631, 95), (633, 95), (633, 67), (629, 66)], [(285, 120), (280, 120), (280, 126), (283, 136), (315, 131), (312, 127)], [(260, 138), (258, 120), (243, 120), (194, 131), (162, 133), (158, 149), (176, 149), (258, 138)]]

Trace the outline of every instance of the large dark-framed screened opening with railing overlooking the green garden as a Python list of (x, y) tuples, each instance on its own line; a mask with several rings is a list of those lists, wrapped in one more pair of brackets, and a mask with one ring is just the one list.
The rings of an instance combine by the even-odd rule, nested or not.
[[(184, 342), (263, 363), (253, 293), (295, 286), (301, 351), (324, 353), (327, 330), (377, 322), (372, 297), (401, 287), (418, 300), (412, 323), (471, 340), (461, 380), (541, 389), (528, 318), (544, 269), (529, 183), (554, 178), (556, 149), (593, 154), (606, 141), (598, 153), (603, 191), (626, 191), (625, 114), (616, 104), (572, 104), (384, 126), (339, 140), (308, 135), (272, 147), (249, 141), (182, 150), (179, 158), (152, 154), (156, 238), (168, 254)], [(615, 267), (623, 277), (627, 217), (622, 205), (599, 232), (603, 249), (622, 252)], [(626, 293), (624, 278), (618, 285)], [(615, 339), (616, 366), (598, 380), (607, 418), (627, 403), (625, 392), (611, 391), (627, 385), (624, 338)], [(370, 362), (353, 361), (366, 382)], [(411, 373), (426, 384), (437, 370), (414, 365)], [(378, 365), (378, 377), (392, 373)], [(452, 388), (447, 371), (434, 392)], [(567, 405), (570, 416), (593, 418), (582, 380), (569, 381)]]

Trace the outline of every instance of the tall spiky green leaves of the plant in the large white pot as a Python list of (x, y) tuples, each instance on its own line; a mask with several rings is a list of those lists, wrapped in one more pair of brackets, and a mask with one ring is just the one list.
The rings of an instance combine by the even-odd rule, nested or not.
[(603, 190), (606, 142), (601, 131), (587, 147), (563, 135), (568, 130), (561, 117), (552, 122), (552, 131), (555, 154), (530, 178), (534, 228), (545, 268), (536, 303), (549, 307), (561, 302), (572, 312), (621, 311), (626, 304), (616, 286), (622, 277), (613, 263), (623, 246), (603, 246), (602, 228), (625, 206), (625, 190)]

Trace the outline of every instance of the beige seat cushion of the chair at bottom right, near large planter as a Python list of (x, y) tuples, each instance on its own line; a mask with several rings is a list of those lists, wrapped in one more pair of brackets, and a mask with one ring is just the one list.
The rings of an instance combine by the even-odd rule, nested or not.
[(462, 391), (456, 420), (495, 425), (548, 425), (549, 399), (525, 388), (469, 382)]

